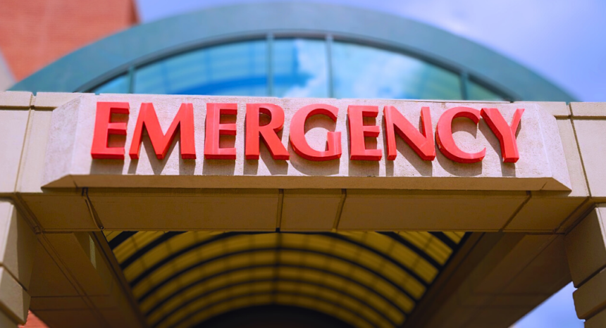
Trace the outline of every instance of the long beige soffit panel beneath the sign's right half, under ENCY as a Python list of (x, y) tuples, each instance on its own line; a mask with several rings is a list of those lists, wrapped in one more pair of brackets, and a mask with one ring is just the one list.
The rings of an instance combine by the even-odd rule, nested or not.
[(524, 192), (347, 191), (338, 229), (497, 231)]

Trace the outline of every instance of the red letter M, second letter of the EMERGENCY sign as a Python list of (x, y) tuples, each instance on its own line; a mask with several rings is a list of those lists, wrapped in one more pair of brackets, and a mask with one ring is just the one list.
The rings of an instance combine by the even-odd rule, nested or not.
[(196, 158), (196, 146), (194, 139), (194, 106), (191, 103), (182, 103), (177, 115), (171, 127), (168, 127), (166, 134), (162, 133), (156, 110), (152, 103), (142, 103), (139, 111), (139, 117), (137, 118), (137, 125), (135, 126), (135, 134), (132, 136), (132, 143), (130, 144), (130, 158), (138, 159), (139, 150), (141, 146), (141, 139), (143, 137), (143, 128), (147, 130), (149, 140), (152, 141), (154, 146), (154, 152), (156, 157), (161, 160), (166, 157), (168, 148), (175, 139), (177, 128), (181, 132), (180, 137), (180, 149), (181, 158), (183, 159), (195, 159)]

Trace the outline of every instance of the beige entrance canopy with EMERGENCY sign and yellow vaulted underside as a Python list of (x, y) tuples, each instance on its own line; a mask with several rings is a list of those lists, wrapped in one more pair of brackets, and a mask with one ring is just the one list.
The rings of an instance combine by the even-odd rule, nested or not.
[(569, 272), (564, 251), (603, 196), (589, 107), (2, 96), (23, 144), (4, 148), (6, 249), (37, 270), (6, 267), (52, 325), (280, 307), (343, 327), (506, 327), (593, 270)]

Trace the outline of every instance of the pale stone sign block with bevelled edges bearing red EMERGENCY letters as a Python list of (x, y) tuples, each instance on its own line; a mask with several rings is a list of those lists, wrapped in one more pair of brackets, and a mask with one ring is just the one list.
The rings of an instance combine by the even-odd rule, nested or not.
[(50, 124), (46, 187), (570, 189), (536, 103), (85, 94)]

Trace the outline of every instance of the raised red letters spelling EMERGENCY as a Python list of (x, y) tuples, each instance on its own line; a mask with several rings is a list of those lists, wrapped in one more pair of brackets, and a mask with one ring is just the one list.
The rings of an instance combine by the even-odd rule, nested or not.
[[(204, 158), (235, 160), (237, 149), (222, 148), (219, 140), (222, 135), (236, 135), (235, 123), (221, 123), (221, 115), (237, 115), (237, 103), (206, 103), (205, 130), (197, 132), (194, 122), (194, 106), (182, 103), (166, 133), (156, 115), (153, 103), (142, 103), (133, 132), (129, 155), (133, 160), (139, 159), (143, 132), (147, 131), (154, 153), (161, 160), (166, 157), (168, 148), (173, 143), (177, 132), (180, 132), (180, 154), (183, 159), (196, 159), (195, 134), (204, 133)], [(108, 145), (111, 134), (127, 134), (126, 122), (111, 122), (112, 114), (130, 113), (128, 102), (97, 102), (97, 113), (94, 123), (94, 137), (91, 156), (95, 159), (124, 159), (123, 146)], [(350, 140), (350, 160), (381, 160), (383, 150), (378, 147), (366, 148), (366, 138), (377, 138), (381, 127), (364, 123), (364, 118), (376, 118), (378, 106), (347, 106), (347, 127)], [(481, 119), (499, 140), (502, 160), (505, 163), (516, 163), (519, 151), (516, 133), (520, 127), (524, 108), (517, 108), (511, 122), (507, 122), (498, 108), (475, 108), (457, 106), (447, 109), (438, 120), (435, 130), (435, 141), (443, 155), (457, 163), (476, 163), (486, 156), (486, 148), (475, 153), (462, 151), (452, 136), (452, 122), (456, 118), (467, 118), (478, 125)], [(259, 160), (260, 141), (263, 141), (274, 160), (289, 160), (290, 153), (280, 140), (278, 133), (285, 123), (284, 109), (274, 103), (246, 103), (245, 120), (245, 154), (247, 160)], [(269, 121), (261, 125), (261, 115), (267, 115)], [(305, 125), (314, 115), (326, 115), (337, 122), (339, 108), (325, 103), (312, 103), (299, 108), (290, 121), (290, 146), (298, 156), (307, 160), (335, 160), (342, 155), (341, 132), (326, 133), (326, 149), (316, 150), (309, 145), (305, 137)], [(383, 122), (385, 131), (385, 152), (388, 160), (397, 157), (396, 137), (399, 136), (410, 146), (422, 160), (435, 159), (433, 125), (429, 107), (421, 107), (420, 130), (398, 111), (395, 106), (384, 106)]]

